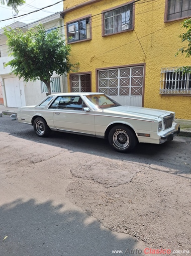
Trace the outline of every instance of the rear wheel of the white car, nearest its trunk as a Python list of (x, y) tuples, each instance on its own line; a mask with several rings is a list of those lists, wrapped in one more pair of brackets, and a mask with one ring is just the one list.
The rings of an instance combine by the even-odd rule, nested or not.
[(50, 128), (48, 127), (46, 121), (41, 117), (37, 117), (35, 119), (33, 127), (34, 127), (36, 134), (39, 137), (47, 137), (51, 131)]

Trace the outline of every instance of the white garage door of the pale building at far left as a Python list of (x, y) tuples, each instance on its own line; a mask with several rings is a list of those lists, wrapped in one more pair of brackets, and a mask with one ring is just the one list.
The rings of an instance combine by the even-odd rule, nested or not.
[(4, 83), (8, 107), (20, 108), (25, 106), (23, 81), (20, 81), (18, 77), (5, 78)]

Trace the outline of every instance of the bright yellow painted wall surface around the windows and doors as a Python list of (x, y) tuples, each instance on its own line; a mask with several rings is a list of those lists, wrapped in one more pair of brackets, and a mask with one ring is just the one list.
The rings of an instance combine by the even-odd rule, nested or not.
[[(84, 2), (66, 0), (64, 10)], [(161, 68), (190, 65), (185, 56), (175, 57), (182, 47), (178, 36), (184, 31), (183, 20), (164, 23), (165, 0), (140, 1), (135, 4), (134, 31), (102, 37), (102, 11), (124, 3), (127, 2), (103, 0), (65, 14), (65, 24), (92, 15), (92, 40), (71, 44), (71, 62), (80, 63), (79, 72), (92, 72), (92, 91), (96, 91), (97, 68), (146, 63), (144, 107), (175, 111), (176, 118), (191, 119), (191, 95), (159, 94)]]

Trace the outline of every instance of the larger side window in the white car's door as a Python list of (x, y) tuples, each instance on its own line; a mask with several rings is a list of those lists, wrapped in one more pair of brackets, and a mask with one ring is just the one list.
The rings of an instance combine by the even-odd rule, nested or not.
[(59, 96), (53, 101), (49, 109), (82, 110), (86, 107), (80, 96)]

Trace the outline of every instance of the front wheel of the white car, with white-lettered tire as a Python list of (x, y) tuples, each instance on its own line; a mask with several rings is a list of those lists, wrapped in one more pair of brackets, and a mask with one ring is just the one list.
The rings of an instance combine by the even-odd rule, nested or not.
[(118, 152), (130, 152), (138, 140), (135, 132), (128, 126), (114, 126), (109, 132), (109, 143)]

